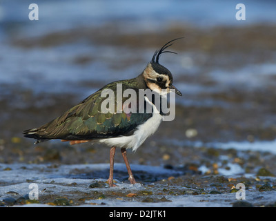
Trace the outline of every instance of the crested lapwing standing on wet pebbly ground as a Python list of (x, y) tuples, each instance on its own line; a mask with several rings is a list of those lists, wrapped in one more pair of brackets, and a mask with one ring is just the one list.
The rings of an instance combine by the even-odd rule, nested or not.
[[(177, 39), (181, 39), (179, 37)], [(128, 171), (128, 180), (130, 184), (137, 183), (130, 169), (130, 164), (126, 155), (126, 149), (132, 148), (132, 151), (137, 151), (137, 148), (150, 137), (159, 124), (164, 119), (164, 113), (158, 110), (155, 104), (157, 99), (151, 95), (143, 95), (142, 101), (144, 108), (146, 104), (150, 105), (150, 111), (135, 112), (135, 105), (132, 106), (132, 111), (123, 110), (124, 104), (128, 97), (123, 97), (121, 103), (118, 102), (119, 94), (116, 93), (117, 86), (121, 86), (122, 90), (133, 90), (138, 93), (138, 90), (150, 90), (161, 95), (163, 92), (167, 94), (174, 92), (177, 95), (182, 95), (175, 86), (172, 85), (172, 73), (170, 70), (159, 64), (159, 58), (164, 53), (177, 54), (170, 50), (166, 50), (172, 46), (172, 42), (177, 39), (168, 41), (159, 50), (156, 50), (146, 68), (135, 78), (114, 81), (101, 89), (97, 90), (92, 95), (83, 99), (82, 102), (70, 108), (59, 117), (52, 121), (43, 124), (39, 128), (31, 128), (23, 131), (23, 135), (28, 138), (34, 138), (37, 141), (34, 144), (46, 142), (48, 140), (61, 140), (61, 142), (70, 142), (71, 145), (81, 144), (85, 142), (102, 143), (110, 146), (110, 171), (108, 177), (108, 185), (110, 187), (117, 186), (113, 180), (114, 158), (116, 148), (121, 148), (121, 155), (124, 158), (126, 169)], [(114, 104), (117, 111), (103, 113), (101, 107), (108, 96), (103, 97), (104, 90), (115, 91)], [(150, 99), (152, 98), (153, 99)], [(140, 99), (140, 100), (141, 100)], [(141, 103), (143, 103), (141, 102)], [(127, 108), (131, 108), (132, 103), (126, 104)], [(110, 105), (111, 106), (111, 105)], [(139, 106), (139, 107), (138, 107)], [(142, 104), (137, 104), (136, 108), (140, 108)], [(134, 108), (134, 109), (133, 109)], [(124, 109), (125, 110), (125, 109)], [(134, 110), (134, 111), (133, 111)], [(144, 109), (145, 110), (145, 109)]]

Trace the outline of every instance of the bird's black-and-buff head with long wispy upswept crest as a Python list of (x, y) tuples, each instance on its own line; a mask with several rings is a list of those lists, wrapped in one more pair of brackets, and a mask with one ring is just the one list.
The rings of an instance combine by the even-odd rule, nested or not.
[(166, 50), (166, 48), (172, 46), (172, 41), (177, 39), (168, 41), (168, 43), (166, 43), (160, 50), (155, 51), (155, 54), (152, 56), (150, 63), (148, 63), (143, 72), (143, 76), (148, 88), (150, 88), (150, 90), (156, 91), (159, 94), (162, 94), (161, 91), (170, 93), (170, 90), (174, 89), (177, 95), (182, 95), (181, 92), (172, 85), (172, 73), (170, 73), (170, 70), (159, 64), (159, 57), (161, 54), (166, 52), (176, 54), (175, 52)]

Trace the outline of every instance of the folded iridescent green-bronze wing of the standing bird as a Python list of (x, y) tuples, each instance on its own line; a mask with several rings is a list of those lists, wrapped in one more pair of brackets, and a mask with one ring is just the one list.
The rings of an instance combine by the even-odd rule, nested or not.
[[(120, 81), (118, 81), (120, 83)], [(116, 82), (116, 83), (118, 83)], [(124, 82), (124, 81), (123, 81)], [(122, 84), (123, 92), (129, 86)], [(114, 91), (115, 100), (118, 100), (116, 84), (109, 84), (105, 88)], [(44, 128), (45, 138), (48, 139), (64, 139), (64, 140), (91, 140), (103, 137), (119, 137), (121, 135), (131, 135), (139, 124), (145, 122), (152, 116), (151, 113), (138, 113), (139, 109), (139, 93), (137, 93), (136, 109), (137, 113), (117, 113), (117, 105), (114, 102), (115, 112), (104, 113), (103, 102), (108, 97), (101, 97), (102, 89), (97, 93), (90, 95), (83, 102), (63, 113), (57, 119), (42, 126)], [(118, 96), (118, 97), (117, 97)], [(130, 97), (122, 97), (120, 108), (122, 109), (126, 100)], [(144, 100), (143, 100), (144, 102)], [(131, 103), (134, 104), (133, 102)], [(146, 105), (144, 105), (146, 107)], [(119, 108), (119, 107), (118, 107)], [(42, 129), (41, 127), (41, 129)], [(44, 138), (44, 139), (45, 139)]]

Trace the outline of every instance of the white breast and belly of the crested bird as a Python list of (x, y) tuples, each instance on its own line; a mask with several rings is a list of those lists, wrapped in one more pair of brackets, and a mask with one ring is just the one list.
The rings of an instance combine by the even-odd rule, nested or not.
[(152, 117), (150, 117), (144, 124), (138, 126), (137, 131), (130, 136), (121, 136), (114, 138), (106, 138), (99, 140), (99, 142), (107, 144), (109, 146), (118, 146), (121, 148), (132, 148), (132, 151), (136, 151), (144, 141), (150, 137), (163, 120), (157, 108), (152, 104), (147, 97), (145, 97), (146, 102), (149, 102), (153, 107)]

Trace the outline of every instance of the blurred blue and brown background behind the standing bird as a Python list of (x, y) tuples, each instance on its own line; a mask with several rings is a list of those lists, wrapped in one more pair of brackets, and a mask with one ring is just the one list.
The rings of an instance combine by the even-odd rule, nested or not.
[[(28, 18), (31, 3), (39, 6), (38, 21)], [(108, 162), (106, 146), (34, 146), (22, 132), (111, 81), (136, 77), (155, 50), (184, 37), (171, 48), (178, 55), (160, 59), (183, 94), (176, 97), (176, 118), (130, 153), (130, 162), (208, 170), (228, 160), (221, 169), (273, 168), (276, 2), (243, 1), (246, 20), (236, 19), (237, 3), (1, 0), (0, 162)], [(253, 166), (246, 163), (252, 155)]]

